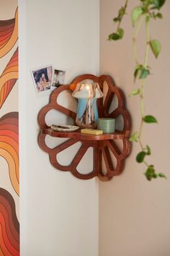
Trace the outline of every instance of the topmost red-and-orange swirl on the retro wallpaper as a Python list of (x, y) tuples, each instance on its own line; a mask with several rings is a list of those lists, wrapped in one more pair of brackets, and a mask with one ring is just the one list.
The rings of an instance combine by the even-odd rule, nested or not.
[(18, 9), (12, 20), (0, 20), (0, 58), (6, 55), (18, 39)]

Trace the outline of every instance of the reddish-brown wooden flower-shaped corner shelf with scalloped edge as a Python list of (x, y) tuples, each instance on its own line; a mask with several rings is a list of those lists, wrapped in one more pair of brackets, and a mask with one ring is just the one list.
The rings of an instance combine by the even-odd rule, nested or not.
[[(122, 116), (124, 127), (122, 131), (116, 131), (112, 134), (104, 135), (85, 135), (81, 134), (78, 130), (76, 132), (56, 132), (45, 123), (45, 116), (48, 111), (56, 109), (61, 111), (63, 114), (71, 116), (73, 120), (76, 119), (76, 113), (58, 104), (58, 95), (63, 92), (63, 90), (69, 90), (69, 88), (75, 87), (78, 82), (83, 80), (93, 80), (94, 82), (99, 82), (99, 87), (103, 91), (104, 83), (107, 84), (108, 90), (103, 98), (97, 100), (97, 107), (99, 112), (99, 117), (112, 117), (117, 119), (118, 116)], [(117, 95), (117, 108), (109, 113), (109, 108), (112, 104), (114, 95)], [(38, 136), (38, 143), (40, 148), (49, 154), (50, 163), (58, 170), (61, 171), (71, 171), (71, 173), (79, 179), (91, 179), (94, 176), (98, 176), (102, 181), (108, 181), (112, 179), (113, 176), (119, 175), (122, 172), (124, 166), (125, 158), (130, 153), (131, 144), (128, 140), (130, 135), (130, 114), (125, 108), (125, 98), (120, 88), (115, 86), (112, 77), (108, 75), (102, 75), (96, 77), (92, 74), (83, 74), (71, 82), (70, 85), (62, 85), (61, 87), (55, 89), (50, 95), (50, 101), (47, 106), (44, 106), (40, 113), (38, 114), (38, 123), (40, 124), (40, 134)], [(55, 148), (49, 148), (45, 143), (45, 137), (50, 135), (51, 137), (63, 137), (68, 138), (65, 142), (56, 146)], [(116, 140), (122, 140), (122, 150), (117, 145)], [(58, 153), (61, 153), (71, 145), (76, 144), (76, 142), (81, 142), (81, 148), (74, 156), (73, 160), (68, 166), (63, 166), (57, 161)], [(80, 174), (77, 170), (77, 166), (84, 158), (86, 151), (89, 148), (93, 148), (93, 170), (89, 171), (87, 174)], [(112, 155), (116, 158), (116, 165), (112, 163)], [(103, 159), (103, 160), (102, 160)], [(104, 161), (106, 171), (102, 170), (102, 161)], [(88, 171), (88, 170), (87, 170)]]

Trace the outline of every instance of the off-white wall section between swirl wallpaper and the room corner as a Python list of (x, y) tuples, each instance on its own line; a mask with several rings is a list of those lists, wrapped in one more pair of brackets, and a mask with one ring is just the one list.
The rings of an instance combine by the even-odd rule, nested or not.
[[(49, 96), (37, 97), (30, 73), (53, 64), (66, 69), (66, 83), (98, 74), (98, 39), (99, 0), (19, 0), (22, 256), (98, 255), (99, 184), (56, 170), (37, 145), (37, 114)], [(53, 121), (62, 119), (55, 113)], [(61, 156), (64, 164), (73, 150)]]

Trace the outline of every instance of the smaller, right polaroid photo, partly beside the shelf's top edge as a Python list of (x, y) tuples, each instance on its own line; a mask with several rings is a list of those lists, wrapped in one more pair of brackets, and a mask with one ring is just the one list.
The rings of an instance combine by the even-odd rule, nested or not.
[(53, 69), (53, 82), (51, 84), (50, 90), (55, 90), (59, 86), (64, 85), (65, 75), (65, 69)]

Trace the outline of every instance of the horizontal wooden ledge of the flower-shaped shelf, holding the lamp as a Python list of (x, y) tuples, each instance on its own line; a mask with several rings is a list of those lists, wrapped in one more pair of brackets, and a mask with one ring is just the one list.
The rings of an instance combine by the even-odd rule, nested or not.
[(79, 131), (76, 132), (58, 132), (52, 128), (41, 129), (42, 134), (50, 135), (51, 137), (64, 137), (64, 138), (72, 138), (76, 140), (123, 140), (128, 137), (128, 132), (114, 132), (114, 133), (107, 133), (104, 135), (88, 135), (82, 134)]

